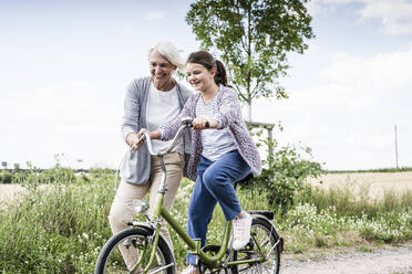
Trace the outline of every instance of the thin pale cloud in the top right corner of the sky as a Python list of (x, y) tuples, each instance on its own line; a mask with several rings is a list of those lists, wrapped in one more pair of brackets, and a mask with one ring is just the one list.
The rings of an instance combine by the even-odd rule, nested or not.
[(350, 3), (360, 4), (357, 14), (361, 20), (378, 19), (387, 34), (412, 33), (412, 2), (408, 0), (313, 0), (308, 9), (319, 14)]

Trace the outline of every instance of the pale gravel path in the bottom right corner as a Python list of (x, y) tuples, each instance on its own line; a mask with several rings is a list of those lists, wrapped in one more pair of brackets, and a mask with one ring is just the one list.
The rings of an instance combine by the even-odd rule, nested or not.
[(288, 261), (280, 274), (412, 274), (412, 246)]

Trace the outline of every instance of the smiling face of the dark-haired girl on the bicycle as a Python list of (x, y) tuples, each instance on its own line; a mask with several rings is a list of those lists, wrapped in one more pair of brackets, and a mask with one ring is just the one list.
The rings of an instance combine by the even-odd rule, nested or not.
[(186, 64), (187, 80), (198, 92), (205, 92), (215, 84), (216, 68), (208, 71), (205, 66), (196, 63)]

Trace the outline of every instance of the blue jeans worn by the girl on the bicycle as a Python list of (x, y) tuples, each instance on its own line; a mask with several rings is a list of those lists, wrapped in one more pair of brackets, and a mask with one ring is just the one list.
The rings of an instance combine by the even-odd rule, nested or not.
[[(187, 215), (187, 233), (192, 239), (200, 239), (206, 244), (207, 225), (218, 202), (226, 221), (234, 220), (241, 207), (231, 183), (250, 173), (250, 167), (238, 150), (231, 150), (216, 161), (200, 157), (197, 178), (193, 189)], [(187, 254), (188, 264), (197, 264), (197, 256)]]

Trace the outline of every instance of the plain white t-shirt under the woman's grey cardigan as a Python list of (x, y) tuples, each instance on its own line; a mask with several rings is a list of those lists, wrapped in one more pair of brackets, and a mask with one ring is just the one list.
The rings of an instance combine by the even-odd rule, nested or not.
[[(176, 85), (171, 91), (163, 92), (157, 89), (153, 83), (148, 88), (147, 95), (147, 129), (156, 130), (159, 126), (173, 120), (181, 113)], [(167, 148), (172, 140), (152, 140), (154, 151)], [(183, 152), (182, 137), (172, 151)]]

